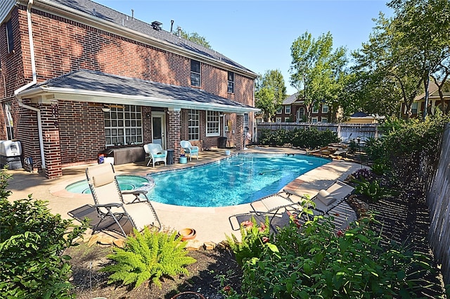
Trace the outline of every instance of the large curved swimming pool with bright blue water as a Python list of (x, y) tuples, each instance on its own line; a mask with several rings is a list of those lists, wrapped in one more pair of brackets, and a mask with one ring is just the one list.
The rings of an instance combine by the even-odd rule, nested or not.
[(151, 174), (155, 186), (147, 196), (170, 205), (240, 205), (276, 193), (328, 162), (309, 155), (234, 155), (200, 167)]

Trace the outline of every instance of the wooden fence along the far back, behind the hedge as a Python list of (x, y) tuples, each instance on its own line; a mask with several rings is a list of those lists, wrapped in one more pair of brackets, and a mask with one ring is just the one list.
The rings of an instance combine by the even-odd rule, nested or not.
[[(262, 122), (257, 125), (257, 136), (260, 136), (261, 130), (268, 129), (276, 131), (278, 129), (285, 129), (292, 131), (294, 129), (311, 129), (315, 128), (319, 131), (329, 129), (332, 132), (338, 133), (342, 142), (347, 142), (351, 139), (360, 138), (362, 141), (369, 137), (377, 138), (380, 135), (378, 124), (335, 124), (335, 123), (308, 123), (308, 122)], [(257, 139), (258, 140), (258, 139)]]

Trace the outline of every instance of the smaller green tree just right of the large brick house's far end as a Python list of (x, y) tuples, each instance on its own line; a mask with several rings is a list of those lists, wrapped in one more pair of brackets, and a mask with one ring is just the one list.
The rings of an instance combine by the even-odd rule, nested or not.
[(286, 98), (286, 87), (280, 70), (266, 70), (256, 80), (255, 106), (262, 110), (264, 122), (268, 122), (281, 108)]

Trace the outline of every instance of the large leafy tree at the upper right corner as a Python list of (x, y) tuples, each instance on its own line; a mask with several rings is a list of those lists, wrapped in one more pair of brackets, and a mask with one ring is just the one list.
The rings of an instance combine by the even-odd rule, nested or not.
[(387, 5), (394, 9), (394, 16), (385, 18), (380, 13), (369, 41), (353, 55), (356, 70), (372, 76), (374, 83), (363, 89), (366, 101), (374, 101), (381, 110), (385, 96), (377, 89), (394, 84), (390, 91), (396, 94), (390, 96), (390, 106), (403, 102), (409, 118), (412, 103), (425, 90), (430, 75), (446, 79), (442, 74), (450, 56), (450, 2), (393, 0)]

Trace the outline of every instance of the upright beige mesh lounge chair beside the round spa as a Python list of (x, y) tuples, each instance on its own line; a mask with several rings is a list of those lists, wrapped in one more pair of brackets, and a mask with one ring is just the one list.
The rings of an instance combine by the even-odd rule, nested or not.
[(103, 163), (88, 167), (86, 177), (94, 198), (94, 208), (101, 219), (92, 229), (92, 234), (98, 230), (102, 222), (113, 220), (119, 227), (118, 232), (126, 237), (127, 233), (120, 223), (122, 218), (129, 220), (132, 227), (139, 231), (146, 226), (161, 229), (160, 220), (146, 197), (146, 191), (120, 191), (113, 165)]

